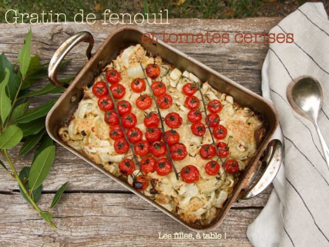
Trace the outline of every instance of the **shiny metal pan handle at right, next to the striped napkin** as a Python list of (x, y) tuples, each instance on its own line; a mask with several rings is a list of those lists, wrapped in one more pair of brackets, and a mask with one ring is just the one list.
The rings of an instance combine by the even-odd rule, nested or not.
[[(256, 183), (253, 183), (251, 187), (246, 188), (242, 192), (242, 196), (240, 198), (250, 199), (261, 193), (263, 190), (265, 190), (267, 186), (269, 186), (272, 183), (277, 172), (279, 171), (282, 158), (283, 158), (283, 147), (281, 141), (278, 139), (274, 139), (270, 141), (266, 147), (265, 156), (262, 160), (263, 162), (266, 163), (266, 167), (263, 173), (260, 175), (260, 179)], [(254, 176), (257, 176), (256, 173)]]

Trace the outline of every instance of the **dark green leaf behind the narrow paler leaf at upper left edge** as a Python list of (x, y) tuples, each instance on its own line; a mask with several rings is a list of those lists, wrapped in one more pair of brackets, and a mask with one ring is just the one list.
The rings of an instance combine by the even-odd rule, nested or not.
[(9, 81), (7, 84), (8, 97), (10, 100), (14, 100), (18, 86), (21, 82), (21, 78), (19, 78), (19, 76), (17, 76), (17, 74), (15, 73), (14, 65), (11, 64), (11, 62), (9, 62), (9, 60), (6, 58), (5, 54), (2, 53), (0, 55), (0, 81), (3, 81), (3, 79), (5, 78), (5, 68), (8, 68), (10, 71)]

